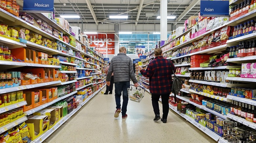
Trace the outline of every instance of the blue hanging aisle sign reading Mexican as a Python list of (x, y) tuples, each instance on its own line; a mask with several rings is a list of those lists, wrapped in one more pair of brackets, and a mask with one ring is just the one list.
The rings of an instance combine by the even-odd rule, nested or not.
[(23, 10), (26, 11), (53, 11), (53, 0), (24, 0)]

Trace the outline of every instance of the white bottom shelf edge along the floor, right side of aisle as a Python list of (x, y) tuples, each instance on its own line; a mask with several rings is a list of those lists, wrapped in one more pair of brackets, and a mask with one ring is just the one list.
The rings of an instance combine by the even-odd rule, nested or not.
[[(161, 98), (159, 99), (161, 102)], [(214, 132), (212, 132), (211, 130), (207, 129), (206, 127), (203, 127), (201, 124), (197, 123), (194, 119), (190, 118), (189, 116), (179, 112), (177, 110), (177, 107), (172, 106), (171, 104), (169, 104), (169, 108), (171, 108), (174, 112), (176, 112), (177, 114), (179, 114), (181, 117), (185, 118), (187, 121), (189, 121), (190, 123), (192, 123), (194, 126), (196, 126), (198, 129), (200, 129), (203, 133), (205, 133), (206, 135), (209, 135), (211, 138), (213, 138), (215, 141), (218, 141), (221, 137), (217, 134), (215, 134)]]

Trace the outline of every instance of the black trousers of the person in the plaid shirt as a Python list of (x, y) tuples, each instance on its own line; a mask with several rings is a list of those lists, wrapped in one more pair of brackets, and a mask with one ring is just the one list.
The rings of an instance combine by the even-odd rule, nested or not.
[(170, 95), (170, 93), (168, 93), (168, 94), (151, 94), (152, 105), (153, 105), (155, 115), (160, 115), (158, 101), (161, 96), (162, 105), (163, 105), (163, 116), (162, 116), (163, 119), (167, 119), (167, 116), (169, 113), (169, 95)]

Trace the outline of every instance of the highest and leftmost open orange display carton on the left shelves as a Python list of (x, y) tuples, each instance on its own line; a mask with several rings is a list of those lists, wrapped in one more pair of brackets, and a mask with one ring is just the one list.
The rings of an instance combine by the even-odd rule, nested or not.
[(30, 63), (30, 51), (28, 48), (17, 48), (11, 49), (11, 54), (20, 60), (24, 60), (25, 63)]

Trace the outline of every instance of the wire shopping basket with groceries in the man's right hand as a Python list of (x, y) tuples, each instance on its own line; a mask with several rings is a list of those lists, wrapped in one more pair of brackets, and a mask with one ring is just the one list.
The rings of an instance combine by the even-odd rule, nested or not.
[(142, 98), (144, 97), (145, 88), (144, 87), (135, 87), (134, 85), (130, 85), (130, 88), (127, 88), (127, 92), (128, 92), (128, 98), (131, 101), (135, 101), (135, 102), (139, 103), (142, 100)]

